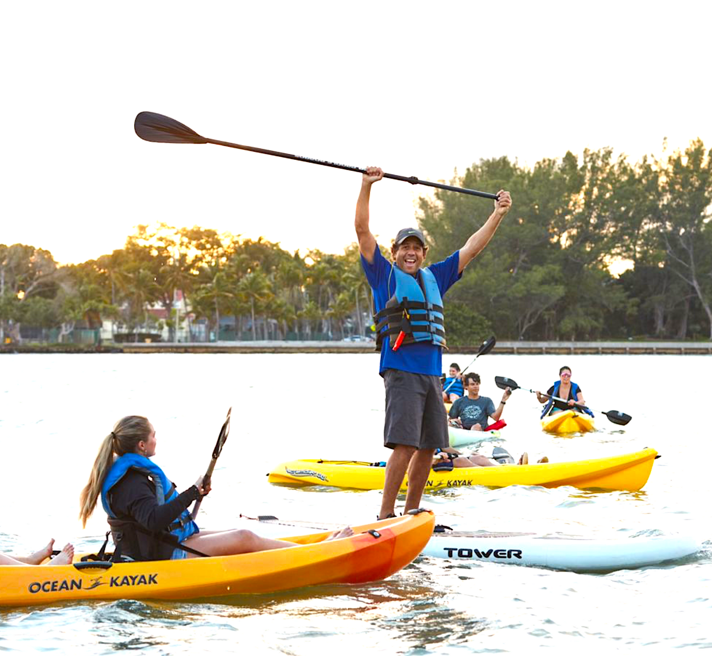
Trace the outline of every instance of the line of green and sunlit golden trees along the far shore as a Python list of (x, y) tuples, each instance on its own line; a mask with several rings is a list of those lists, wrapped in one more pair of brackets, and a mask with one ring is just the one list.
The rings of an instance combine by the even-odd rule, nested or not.
[[(453, 345), (499, 339), (712, 339), (712, 151), (638, 162), (612, 149), (523, 166), (482, 159), (452, 184), (508, 189), (514, 206), (446, 297)], [(419, 201), (428, 261), (464, 244), (485, 201), (436, 191)], [(382, 245), (388, 247), (389, 243)], [(385, 251), (384, 251), (385, 252)], [(624, 262), (613, 275), (609, 268)], [(357, 246), (340, 255), (288, 253), (278, 243), (161, 223), (125, 247), (58, 266), (48, 250), (0, 244), (0, 333), (111, 319), (125, 333), (163, 319), (174, 339), (178, 295), (221, 339), (341, 339), (370, 334), (370, 289)], [(221, 318), (222, 317), (222, 318)], [(158, 326), (162, 327), (162, 326)]]

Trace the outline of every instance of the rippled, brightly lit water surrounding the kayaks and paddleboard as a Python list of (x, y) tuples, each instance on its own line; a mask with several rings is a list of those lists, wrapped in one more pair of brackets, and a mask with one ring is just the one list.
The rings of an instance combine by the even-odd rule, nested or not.
[[(446, 356), (464, 366), (472, 356)], [(548, 387), (567, 364), (601, 415), (597, 432), (544, 435), (534, 396), (515, 391), (503, 418), (512, 453), (573, 460), (659, 450), (642, 492), (570, 487), (445, 490), (424, 497), (462, 529), (634, 536), (681, 531), (712, 538), (705, 356), (498, 356), (478, 359), (482, 393), (494, 376)], [(358, 523), (379, 492), (268, 485), (294, 457), (385, 459), (376, 355), (16, 355), (0, 357), (0, 550), (23, 553), (53, 536), (80, 551), (103, 539), (97, 512), (78, 523), (78, 493), (98, 443), (125, 414), (157, 429), (156, 462), (184, 489), (204, 472), (226, 410), (229, 440), (199, 524), (227, 528), (240, 514)], [(709, 547), (709, 542), (707, 546)], [(664, 568), (575, 574), (420, 558), (387, 581), (237, 598), (225, 604), (70, 603), (0, 610), (0, 651), (77, 655), (669, 652), (712, 647), (709, 551)]]

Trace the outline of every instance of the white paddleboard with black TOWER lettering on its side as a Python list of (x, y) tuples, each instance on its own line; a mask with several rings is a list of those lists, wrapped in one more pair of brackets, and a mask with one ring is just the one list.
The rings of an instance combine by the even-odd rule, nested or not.
[(675, 561), (696, 554), (701, 548), (700, 540), (679, 534), (590, 539), (446, 530), (433, 534), (423, 555), (569, 571), (614, 571)]

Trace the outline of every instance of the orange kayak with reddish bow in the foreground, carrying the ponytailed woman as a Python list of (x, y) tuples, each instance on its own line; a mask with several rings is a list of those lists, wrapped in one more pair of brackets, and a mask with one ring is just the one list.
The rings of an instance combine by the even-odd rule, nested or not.
[(427, 544), (435, 516), (415, 511), (354, 527), (335, 540), (320, 532), (299, 546), (238, 556), (71, 565), (0, 566), (0, 606), (78, 599), (197, 599), (268, 593), (323, 583), (378, 581), (409, 564)]

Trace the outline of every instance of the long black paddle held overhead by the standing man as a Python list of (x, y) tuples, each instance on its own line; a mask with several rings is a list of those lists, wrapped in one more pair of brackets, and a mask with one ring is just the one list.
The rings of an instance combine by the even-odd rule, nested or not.
[[(262, 153), (263, 155), (273, 155), (274, 157), (286, 157), (286, 159), (296, 159), (298, 162), (307, 162), (308, 164), (319, 164), (320, 166), (331, 166), (333, 169), (345, 169), (346, 171), (356, 171), (357, 173), (365, 173), (365, 169), (359, 169), (357, 166), (347, 166), (347, 164), (336, 164), (335, 162), (325, 162), (323, 159), (312, 159), (310, 157), (301, 157), (300, 155), (292, 155), (289, 153), (278, 152), (276, 150), (267, 150), (265, 148), (257, 148), (254, 146), (244, 146), (242, 144), (232, 144), (231, 142), (219, 141), (218, 139), (208, 139), (201, 137), (200, 134), (194, 132), (187, 125), (179, 123), (177, 120), (155, 112), (140, 112), (136, 115), (134, 121), (134, 129), (136, 134), (145, 141), (158, 142), (161, 144), (216, 144), (217, 146), (227, 146), (229, 148), (239, 148), (241, 150), (250, 150), (251, 152)], [(449, 184), (440, 184), (439, 182), (429, 182), (421, 180), (416, 176), (399, 176), (392, 173), (384, 173), (384, 178), (392, 180), (401, 180), (410, 184), (423, 184), (425, 186), (437, 187), (446, 191), (457, 191), (459, 194), (469, 194), (470, 196), (480, 196), (483, 199), (497, 200), (497, 194), (488, 194), (486, 191), (476, 191), (475, 189), (464, 189), (463, 187), (454, 187)]]

